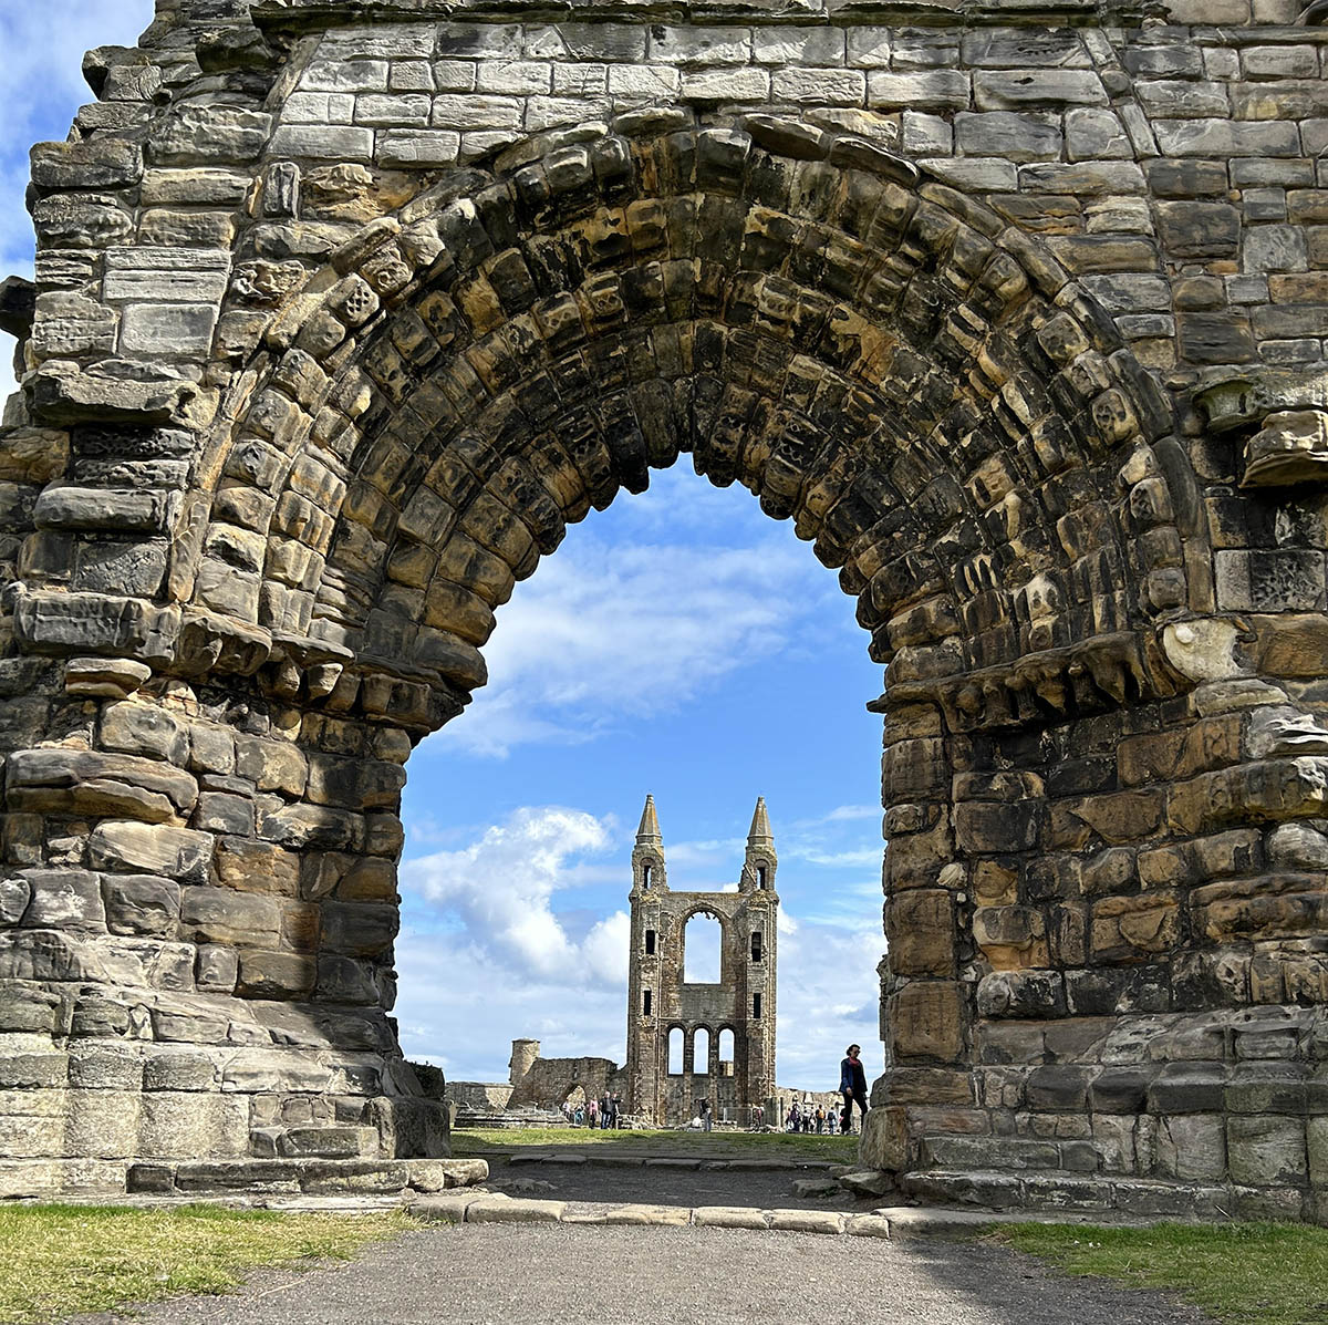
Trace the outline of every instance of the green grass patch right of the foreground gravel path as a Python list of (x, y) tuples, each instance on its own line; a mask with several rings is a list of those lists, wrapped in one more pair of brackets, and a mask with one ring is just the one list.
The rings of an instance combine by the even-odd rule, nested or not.
[(1328, 1228), (1008, 1224), (991, 1236), (1070, 1275), (1101, 1275), (1133, 1288), (1174, 1289), (1232, 1325), (1328, 1321)]

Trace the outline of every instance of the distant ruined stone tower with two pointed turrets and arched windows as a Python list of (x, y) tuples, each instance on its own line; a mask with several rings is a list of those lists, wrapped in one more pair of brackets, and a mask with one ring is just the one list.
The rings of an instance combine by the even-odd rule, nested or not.
[[(708, 1099), (717, 1119), (746, 1123), (752, 1107), (774, 1094), (777, 868), (758, 799), (737, 892), (671, 892), (655, 798), (645, 798), (632, 851), (629, 1113), (671, 1126)], [(720, 927), (717, 984), (685, 978), (689, 921)]]

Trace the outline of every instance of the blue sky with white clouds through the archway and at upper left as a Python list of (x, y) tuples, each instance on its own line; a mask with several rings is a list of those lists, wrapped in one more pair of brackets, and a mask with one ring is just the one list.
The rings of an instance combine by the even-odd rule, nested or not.
[[(90, 100), (84, 49), (131, 45), (150, 20), (147, 0), (0, 5), (0, 276), (32, 272), (27, 153)], [(499, 611), (490, 685), (410, 761), (406, 1052), (469, 1079), (505, 1079), (518, 1036), (620, 1062), (645, 793), (675, 888), (736, 882), (764, 795), (784, 912), (780, 1082), (833, 1087), (851, 1040), (874, 1075), (880, 722), (863, 705), (882, 674), (866, 644), (791, 527), (685, 458), (574, 527)]]

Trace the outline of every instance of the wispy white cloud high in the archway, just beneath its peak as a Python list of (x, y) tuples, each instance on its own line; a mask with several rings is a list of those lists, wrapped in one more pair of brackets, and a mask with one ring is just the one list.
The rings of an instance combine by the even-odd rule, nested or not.
[[(490, 682), (434, 740), (471, 754), (506, 755), (531, 742), (578, 745), (623, 721), (676, 712), (734, 670), (769, 664), (827, 601), (834, 579), (756, 511), (726, 532), (738, 546), (688, 538), (713, 497), (681, 466), (652, 486), (667, 503), (632, 511), (632, 538), (606, 540), (591, 524), (498, 611), (485, 648)], [(676, 489), (676, 493), (675, 493)], [(657, 511), (685, 512), (657, 540)], [(718, 522), (716, 522), (718, 523)]]

